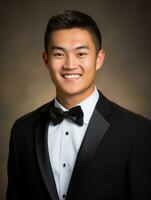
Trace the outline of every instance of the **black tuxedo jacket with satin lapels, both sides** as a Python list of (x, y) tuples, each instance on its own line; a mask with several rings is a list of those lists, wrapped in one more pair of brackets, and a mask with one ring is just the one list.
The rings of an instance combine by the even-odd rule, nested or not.
[[(7, 200), (58, 200), (48, 155), (50, 102), (17, 120)], [(151, 122), (101, 93), (77, 155), (66, 200), (150, 200)]]

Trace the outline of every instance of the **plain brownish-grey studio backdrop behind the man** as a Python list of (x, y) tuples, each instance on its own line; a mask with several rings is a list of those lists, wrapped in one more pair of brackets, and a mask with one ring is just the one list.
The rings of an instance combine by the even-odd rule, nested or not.
[(0, 199), (5, 199), (10, 129), (16, 118), (50, 101), (54, 86), (42, 62), (48, 18), (65, 9), (90, 14), (106, 51), (98, 88), (118, 104), (151, 118), (150, 1), (33, 0), (0, 2)]

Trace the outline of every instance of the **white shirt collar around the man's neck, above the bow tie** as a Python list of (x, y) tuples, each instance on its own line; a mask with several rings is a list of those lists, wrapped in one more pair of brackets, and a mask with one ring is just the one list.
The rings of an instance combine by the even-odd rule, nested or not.
[[(84, 118), (83, 118), (84, 124), (87, 125), (89, 123), (98, 99), (99, 99), (99, 92), (98, 92), (97, 88), (95, 87), (93, 93), (89, 97), (87, 97), (85, 100), (83, 100), (81, 103), (78, 104), (79, 106), (81, 106), (82, 111), (84, 113)], [(78, 105), (76, 105), (76, 106), (78, 106)], [(63, 111), (68, 110), (65, 107), (63, 107), (57, 101), (56, 98), (55, 98), (55, 107), (60, 108)]]

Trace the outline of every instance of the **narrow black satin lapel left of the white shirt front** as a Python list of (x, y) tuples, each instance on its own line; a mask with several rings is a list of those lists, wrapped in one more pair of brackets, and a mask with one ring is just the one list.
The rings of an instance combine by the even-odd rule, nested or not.
[(48, 145), (47, 145), (48, 123), (49, 123), (49, 118), (46, 117), (46, 115), (44, 114), (37, 121), (35, 129), (36, 154), (41, 175), (46, 185), (46, 188), (52, 200), (59, 200), (48, 154)]

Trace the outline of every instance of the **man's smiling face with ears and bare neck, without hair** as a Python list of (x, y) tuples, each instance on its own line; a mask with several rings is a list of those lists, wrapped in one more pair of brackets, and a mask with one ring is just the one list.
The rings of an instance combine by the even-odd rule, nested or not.
[(92, 36), (80, 28), (54, 31), (48, 54), (43, 55), (51, 79), (61, 98), (83, 100), (94, 89), (95, 73), (103, 63), (104, 51), (96, 53)]

